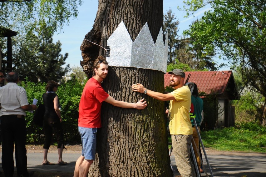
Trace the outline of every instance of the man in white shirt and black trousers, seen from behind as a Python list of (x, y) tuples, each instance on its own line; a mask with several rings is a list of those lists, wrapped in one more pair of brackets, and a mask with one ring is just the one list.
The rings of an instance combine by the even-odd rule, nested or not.
[(0, 88), (2, 169), (5, 176), (13, 176), (15, 143), (17, 176), (32, 176), (34, 171), (27, 171), (25, 111), (36, 110), (37, 107), (28, 103), (25, 89), (17, 85), (19, 76), (16, 72), (8, 73), (6, 81), (7, 85)]

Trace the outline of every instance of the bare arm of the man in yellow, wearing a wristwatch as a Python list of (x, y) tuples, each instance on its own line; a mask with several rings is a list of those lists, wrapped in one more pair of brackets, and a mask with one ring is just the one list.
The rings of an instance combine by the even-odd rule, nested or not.
[[(131, 86), (131, 88), (135, 92), (144, 93), (144, 91), (145, 91), (145, 87), (142, 84), (140, 84), (140, 83), (133, 84)], [(147, 95), (149, 95), (152, 98), (161, 100), (161, 101), (175, 100), (175, 97), (171, 93), (169, 93), (169, 94), (162, 94), (160, 92), (154, 92), (154, 91), (151, 91), (151, 90), (147, 90)]]

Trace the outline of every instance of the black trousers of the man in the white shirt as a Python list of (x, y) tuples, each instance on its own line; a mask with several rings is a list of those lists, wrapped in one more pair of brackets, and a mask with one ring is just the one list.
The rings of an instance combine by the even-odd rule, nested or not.
[(28, 176), (26, 150), (26, 123), (24, 116), (1, 116), (2, 169), (6, 177), (14, 173), (14, 143), (17, 176)]

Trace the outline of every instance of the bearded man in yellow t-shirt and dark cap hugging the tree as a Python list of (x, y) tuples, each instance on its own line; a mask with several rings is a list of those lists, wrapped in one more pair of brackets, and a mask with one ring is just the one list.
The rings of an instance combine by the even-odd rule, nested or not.
[(190, 159), (190, 144), (192, 139), (192, 124), (189, 111), (191, 106), (191, 92), (184, 85), (185, 73), (181, 69), (169, 72), (170, 86), (175, 90), (169, 94), (162, 94), (146, 89), (142, 84), (133, 84), (133, 91), (149, 95), (152, 98), (169, 101), (170, 123), (169, 129), (172, 135), (173, 153), (178, 171), (182, 177), (195, 176)]

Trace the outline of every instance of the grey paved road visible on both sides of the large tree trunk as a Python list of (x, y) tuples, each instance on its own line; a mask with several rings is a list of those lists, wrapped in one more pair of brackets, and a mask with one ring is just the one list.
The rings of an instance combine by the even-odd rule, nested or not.
[[(1, 152), (0, 155), (2, 155)], [(27, 153), (28, 169), (48, 173), (58, 172), (59, 174), (60, 172), (74, 172), (76, 159), (79, 156), (80, 153), (63, 153), (63, 160), (68, 162), (67, 165), (43, 166), (42, 153)], [(48, 159), (52, 163), (57, 163), (57, 153), (48, 153)], [(246, 177), (266, 177), (266, 154), (210, 154), (208, 159), (214, 176), (242, 177), (245, 175)], [(173, 155), (170, 160), (174, 174), (178, 175)], [(204, 163), (206, 164), (205, 160)], [(208, 172), (208, 174), (210, 173)], [(206, 175), (202, 173), (201, 176)]]

